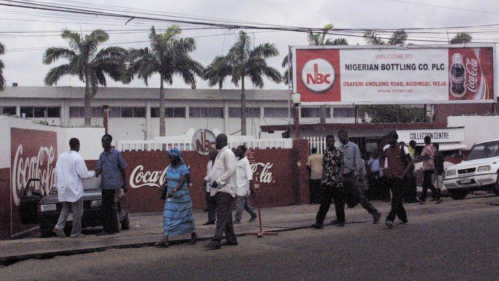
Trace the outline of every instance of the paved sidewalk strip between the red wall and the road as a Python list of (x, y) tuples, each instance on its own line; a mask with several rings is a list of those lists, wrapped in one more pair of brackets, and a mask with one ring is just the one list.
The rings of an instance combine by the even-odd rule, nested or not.
[[(469, 204), (499, 204), (498, 197), (469, 196), (466, 200), (451, 200), (446, 198), (442, 204), (406, 204), (405, 208), (409, 217), (411, 214), (435, 213), (439, 210), (456, 210)], [(390, 210), (390, 203), (374, 201), (374, 206), (382, 213), (381, 224)], [(474, 207), (475, 205), (473, 205)], [(283, 206), (274, 208), (264, 208), (262, 213), (262, 224), (264, 231), (286, 231), (299, 228), (307, 228), (315, 222), (315, 214), (319, 205), (299, 205)], [(349, 223), (371, 223), (372, 216), (362, 207), (346, 209), (347, 224)], [(326, 217), (325, 224), (328, 224), (335, 218), (334, 206)], [(195, 212), (194, 219), (199, 238), (209, 239), (215, 232), (215, 226), (203, 226), (207, 221), (207, 214)], [(258, 232), (258, 221), (247, 223), (250, 215), (243, 213), (242, 223), (235, 225), (236, 234), (243, 235), (247, 232)], [(0, 264), (23, 260), (26, 258), (51, 257), (61, 254), (76, 254), (83, 252), (92, 252), (104, 250), (107, 248), (120, 247), (140, 247), (148, 246), (162, 239), (163, 233), (163, 215), (133, 215), (130, 217), (130, 230), (122, 231), (110, 236), (96, 236), (97, 230), (86, 230), (88, 234), (81, 238), (28, 238), (19, 240), (0, 241)], [(182, 243), (190, 238), (190, 234), (181, 236), (172, 236), (171, 241)], [(256, 238), (255, 238), (256, 239)]]

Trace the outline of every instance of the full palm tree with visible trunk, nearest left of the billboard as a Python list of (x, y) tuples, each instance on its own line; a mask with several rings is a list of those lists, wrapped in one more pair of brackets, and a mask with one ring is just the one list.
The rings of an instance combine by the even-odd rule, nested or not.
[(273, 67), (267, 65), (266, 59), (278, 56), (274, 44), (265, 43), (252, 48), (252, 41), (244, 31), (239, 32), (239, 38), (229, 50), (228, 54), (219, 55), (205, 70), (205, 79), (210, 87), (218, 84), (222, 89), (226, 77), (231, 76), (231, 82), (239, 85), (241, 81), (241, 135), (246, 135), (246, 93), (244, 79), (250, 78), (255, 87), (263, 88), (262, 75), (271, 81), (280, 83), (281, 74)]

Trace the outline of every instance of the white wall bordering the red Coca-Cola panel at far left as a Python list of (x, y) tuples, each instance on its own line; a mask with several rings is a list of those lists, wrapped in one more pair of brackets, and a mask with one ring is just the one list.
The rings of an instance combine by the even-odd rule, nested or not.
[(99, 159), (104, 128), (63, 128), (33, 123), (31, 119), (0, 115), (0, 168), (10, 167), (10, 128), (57, 132), (58, 155), (70, 149), (69, 140), (80, 140), (80, 154), (85, 160)]

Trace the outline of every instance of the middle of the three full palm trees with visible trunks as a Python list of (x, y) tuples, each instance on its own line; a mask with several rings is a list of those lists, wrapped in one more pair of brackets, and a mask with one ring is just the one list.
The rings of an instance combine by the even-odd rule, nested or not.
[(171, 85), (173, 76), (179, 75), (186, 84), (195, 85), (195, 75), (202, 77), (203, 66), (189, 55), (196, 50), (196, 40), (191, 37), (179, 38), (182, 29), (179, 26), (170, 26), (165, 33), (157, 34), (154, 26), (151, 27), (149, 40), (151, 49), (129, 50), (129, 78), (137, 75), (148, 85), (148, 79), (160, 75), (160, 136), (164, 137), (165, 130), (165, 89), (164, 82)]

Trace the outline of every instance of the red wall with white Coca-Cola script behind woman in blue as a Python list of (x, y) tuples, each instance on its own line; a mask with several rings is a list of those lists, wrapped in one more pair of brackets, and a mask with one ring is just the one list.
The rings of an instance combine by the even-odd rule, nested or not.
[[(123, 152), (128, 164), (128, 200), (131, 212), (158, 212), (164, 208), (160, 200), (161, 183), (169, 165), (167, 152)], [(246, 153), (254, 178), (259, 183), (258, 203), (261, 206), (295, 204), (294, 169), (292, 149), (256, 149)], [(275, 157), (279, 155), (279, 157)], [(206, 206), (206, 189), (201, 186), (206, 176), (208, 156), (194, 151), (183, 152), (184, 161), (190, 166), (191, 198), (194, 209)], [(253, 199), (255, 200), (255, 199)], [(257, 202), (255, 202), (256, 204)]]

